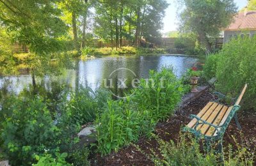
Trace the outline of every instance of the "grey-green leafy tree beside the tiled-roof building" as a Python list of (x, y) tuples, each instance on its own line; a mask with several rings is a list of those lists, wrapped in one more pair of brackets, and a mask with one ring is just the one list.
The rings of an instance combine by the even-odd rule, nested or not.
[(227, 27), (237, 13), (233, 0), (183, 0), (184, 10), (179, 14), (180, 31), (195, 33), (211, 52), (209, 38), (216, 38), (220, 30)]

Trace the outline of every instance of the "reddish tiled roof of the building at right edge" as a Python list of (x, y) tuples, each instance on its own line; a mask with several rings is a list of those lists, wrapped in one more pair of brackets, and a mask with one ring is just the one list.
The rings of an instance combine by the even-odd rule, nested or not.
[(237, 29), (256, 29), (256, 11), (241, 11), (237, 13), (234, 22), (225, 30)]

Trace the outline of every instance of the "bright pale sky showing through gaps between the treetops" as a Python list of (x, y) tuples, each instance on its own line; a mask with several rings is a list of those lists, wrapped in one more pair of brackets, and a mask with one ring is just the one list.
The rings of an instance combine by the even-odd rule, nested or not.
[[(175, 0), (166, 0), (167, 3), (170, 5), (166, 9), (166, 15), (164, 17), (164, 28), (162, 30), (162, 33), (166, 33), (168, 31), (175, 31), (178, 28), (177, 25), (177, 3), (175, 3)], [(247, 0), (234, 0), (234, 2), (237, 4), (238, 10), (246, 6)]]

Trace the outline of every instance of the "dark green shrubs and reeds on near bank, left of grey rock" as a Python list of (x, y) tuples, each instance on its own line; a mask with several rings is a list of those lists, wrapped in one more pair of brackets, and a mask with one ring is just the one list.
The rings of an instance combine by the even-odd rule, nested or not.
[(19, 96), (6, 94), (0, 103), (0, 143), (10, 163), (31, 165), (36, 162), (35, 156), (44, 156), (45, 151), (51, 158), (68, 152), (72, 160), (70, 149), (79, 140), (76, 134), (81, 125), (94, 121), (97, 111), (110, 98), (104, 89), (91, 95), (90, 92), (84, 87), (79, 87), (77, 93), (63, 90), (59, 93), (63, 96), (58, 96), (55, 102), (51, 95), (40, 91), (26, 90)]

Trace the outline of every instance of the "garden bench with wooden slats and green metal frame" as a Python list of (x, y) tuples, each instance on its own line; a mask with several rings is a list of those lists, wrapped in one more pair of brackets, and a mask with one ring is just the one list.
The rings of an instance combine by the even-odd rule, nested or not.
[(237, 98), (230, 98), (236, 101), (234, 105), (227, 106), (220, 103), (221, 99), (228, 98), (224, 94), (215, 92), (219, 98), (215, 102), (209, 102), (205, 105), (197, 115), (191, 115), (192, 119), (186, 127), (185, 132), (195, 134), (196, 139), (205, 139), (207, 149), (211, 147), (212, 142), (218, 141), (218, 151), (222, 152), (222, 140), (225, 130), (231, 119), (234, 117), (237, 128), (241, 130), (241, 126), (237, 120), (237, 110), (240, 109), (239, 103), (241, 102), (244, 92), (246, 91), (247, 84)]

